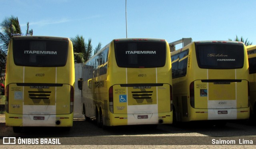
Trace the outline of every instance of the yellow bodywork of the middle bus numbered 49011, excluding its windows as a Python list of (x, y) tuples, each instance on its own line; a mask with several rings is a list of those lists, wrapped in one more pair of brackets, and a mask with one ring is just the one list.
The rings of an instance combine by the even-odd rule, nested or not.
[[(170, 86), (172, 78), (168, 43), (166, 42), (166, 65), (160, 68), (120, 68), (116, 64), (114, 40), (103, 50), (107, 48), (109, 50), (106, 74), (83, 80), (84, 106), (85, 111), (88, 111), (85, 112), (86, 116), (96, 117), (96, 112), (102, 111), (106, 126), (158, 124), (159, 120), (162, 120), (164, 124), (171, 124)], [(91, 89), (89, 85), (85, 85), (89, 84), (88, 82), (92, 84)], [(157, 86), (156, 84), (159, 83), (163, 85)], [(130, 84), (142, 84), (148, 88), (126, 86)], [(109, 109), (108, 91), (110, 87), (113, 87), (114, 113)], [(134, 99), (137, 96), (136, 93), (142, 94), (142, 92), (147, 92), (145, 96), (148, 99)], [(141, 95), (138, 95), (138, 98), (140, 97)], [(145, 115), (148, 118), (138, 118)]]

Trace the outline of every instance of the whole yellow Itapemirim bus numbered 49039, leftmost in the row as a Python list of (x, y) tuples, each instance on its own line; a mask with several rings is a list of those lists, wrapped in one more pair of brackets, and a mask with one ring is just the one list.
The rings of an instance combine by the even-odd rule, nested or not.
[(6, 125), (73, 125), (74, 54), (68, 38), (15, 36), (6, 62)]

